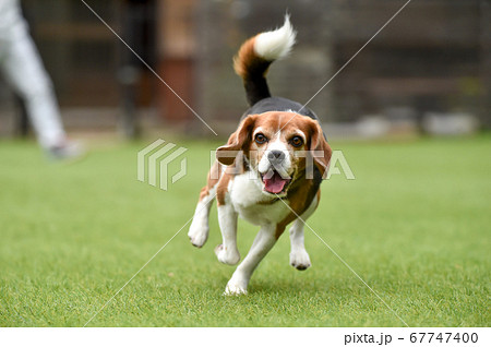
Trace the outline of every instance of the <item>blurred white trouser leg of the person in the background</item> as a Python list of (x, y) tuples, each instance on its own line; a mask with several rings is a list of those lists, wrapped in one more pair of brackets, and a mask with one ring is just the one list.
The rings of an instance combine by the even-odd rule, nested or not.
[(50, 147), (63, 141), (65, 134), (51, 81), (20, 13), (9, 27), (8, 37), (1, 38), (0, 69), (23, 98), (39, 143)]

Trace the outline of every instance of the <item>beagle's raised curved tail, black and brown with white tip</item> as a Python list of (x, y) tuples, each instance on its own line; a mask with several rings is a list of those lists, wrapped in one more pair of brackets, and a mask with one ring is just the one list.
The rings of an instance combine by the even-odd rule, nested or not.
[(233, 58), (233, 69), (243, 80), (250, 106), (271, 96), (266, 83), (267, 69), (273, 61), (288, 56), (296, 36), (297, 32), (286, 14), (280, 28), (258, 34), (240, 47)]

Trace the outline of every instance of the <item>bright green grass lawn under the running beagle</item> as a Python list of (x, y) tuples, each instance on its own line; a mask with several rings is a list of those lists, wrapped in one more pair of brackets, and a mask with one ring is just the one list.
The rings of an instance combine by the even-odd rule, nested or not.
[[(173, 139), (189, 174), (161, 191), (136, 180), (149, 142), (68, 166), (0, 142), (0, 326), (84, 325), (192, 217), (219, 143)], [(325, 181), (310, 226), (410, 326), (489, 326), (491, 136), (332, 145), (356, 180)], [(242, 256), (256, 230), (239, 222)], [(187, 232), (88, 326), (403, 326), (308, 229), (313, 266), (289, 265), (285, 234), (244, 297), (221, 296), (216, 208), (203, 249)]]

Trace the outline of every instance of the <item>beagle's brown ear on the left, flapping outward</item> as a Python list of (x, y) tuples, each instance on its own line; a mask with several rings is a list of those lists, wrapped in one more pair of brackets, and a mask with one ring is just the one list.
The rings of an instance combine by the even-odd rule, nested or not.
[(216, 159), (223, 165), (232, 165), (237, 155), (249, 152), (252, 130), (254, 129), (255, 117), (248, 116), (235, 133), (230, 135), (226, 145), (216, 149)]

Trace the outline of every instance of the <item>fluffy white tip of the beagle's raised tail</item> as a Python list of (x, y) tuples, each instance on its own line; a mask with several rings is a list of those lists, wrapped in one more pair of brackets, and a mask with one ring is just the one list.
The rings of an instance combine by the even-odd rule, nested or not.
[(261, 33), (255, 37), (254, 51), (258, 56), (273, 61), (282, 59), (291, 50), (295, 45), (297, 32), (290, 24), (289, 14), (285, 15), (285, 23), (282, 27), (266, 33)]

